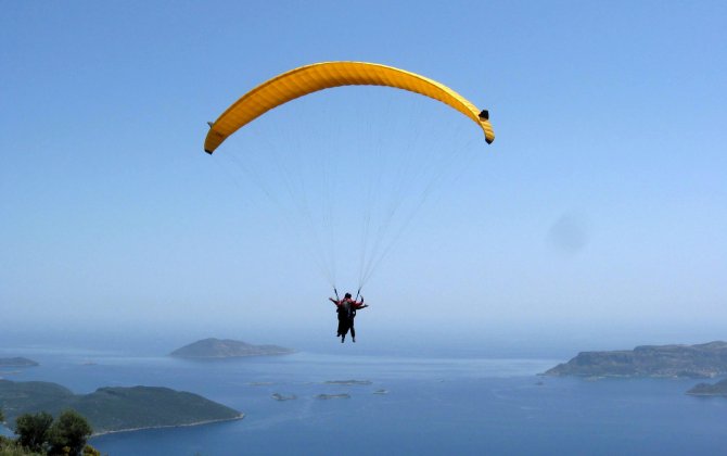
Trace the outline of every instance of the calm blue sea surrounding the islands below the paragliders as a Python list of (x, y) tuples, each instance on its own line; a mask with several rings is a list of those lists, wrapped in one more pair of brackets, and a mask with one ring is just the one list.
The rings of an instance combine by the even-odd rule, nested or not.
[[(238, 421), (91, 440), (110, 455), (713, 455), (727, 448), (727, 398), (686, 395), (698, 380), (537, 376), (563, 359), (23, 355), (41, 366), (0, 376), (54, 381), (76, 393), (169, 387), (245, 414)], [(370, 384), (327, 383), (336, 380)], [(296, 398), (276, 401), (275, 393)], [(317, 397), (343, 393), (349, 397)]]

